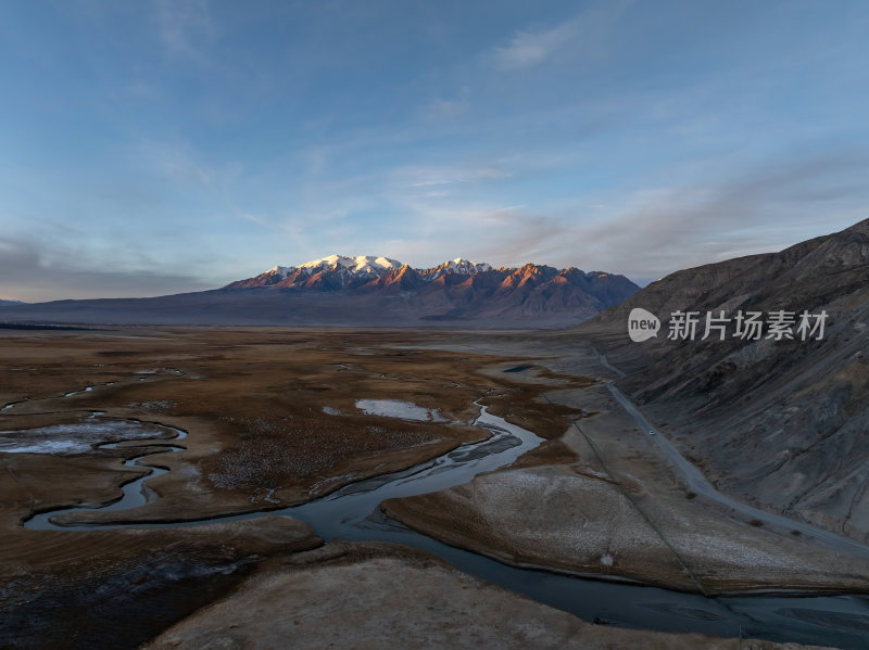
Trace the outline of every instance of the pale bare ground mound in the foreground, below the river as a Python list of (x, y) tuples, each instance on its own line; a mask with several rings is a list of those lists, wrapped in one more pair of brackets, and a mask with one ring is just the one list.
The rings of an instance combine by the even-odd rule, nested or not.
[[(469, 577), (425, 553), (375, 545), (344, 548), (343, 557), (315, 565), (261, 572), (147, 648), (725, 650), (734, 646), (733, 639), (696, 634), (591, 625)], [(751, 643), (757, 650), (805, 648)]]

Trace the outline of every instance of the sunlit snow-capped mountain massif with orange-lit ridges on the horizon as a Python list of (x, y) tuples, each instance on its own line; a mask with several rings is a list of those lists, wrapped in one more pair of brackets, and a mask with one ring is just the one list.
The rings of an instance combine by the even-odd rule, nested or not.
[[(390, 257), (330, 255), (300, 266), (276, 266), (224, 288), (238, 289), (284, 290), (287, 299), (307, 295), (312, 305), (332, 295), (341, 309), (353, 305), (354, 319), (360, 318), (360, 309), (386, 309), (406, 311), (403, 318), (424, 322), (478, 320), (494, 327), (516, 321), (533, 324), (534, 320), (576, 323), (620, 303), (639, 288), (624, 276), (587, 273), (572, 267), (559, 270), (526, 264), (494, 269), (456, 257), (415, 269)], [(318, 294), (324, 297), (315, 298)]]

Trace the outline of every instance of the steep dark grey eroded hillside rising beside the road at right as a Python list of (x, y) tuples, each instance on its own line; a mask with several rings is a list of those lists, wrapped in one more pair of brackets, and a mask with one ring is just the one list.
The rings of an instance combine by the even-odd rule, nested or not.
[[(829, 319), (820, 341), (676, 342), (665, 323), (658, 339), (634, 344), (626, 333), (633, 307), (663, 320), (677, 309), (826, 310)], [(577, 332), (628, 372), (622, 391), (669, 422), (723, 490), (869, 540), (869, 220), (672, 273)]]

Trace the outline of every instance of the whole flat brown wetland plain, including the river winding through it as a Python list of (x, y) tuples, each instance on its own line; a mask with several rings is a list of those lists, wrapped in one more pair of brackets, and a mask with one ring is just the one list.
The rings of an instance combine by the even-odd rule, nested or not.
[(4, 330), (0, 349), (3, 646), (383, 647), (425, 622), (449, 629), (429, 647), (723, 648), (769, 610), (754, 647), (776, 648), (788, 608), (707, 597), (829, 608), (867, 584), (861, 558), (687, 494), (564, 333)]

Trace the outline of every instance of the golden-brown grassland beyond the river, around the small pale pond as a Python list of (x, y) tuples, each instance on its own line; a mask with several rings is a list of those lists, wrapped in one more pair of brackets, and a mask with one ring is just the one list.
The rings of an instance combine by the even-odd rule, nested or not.
[[(128, 520), (272, 509), (410, 467), (478, 439), (483, 432), (468, 423), (478, 412), (474, 402), (483, 396), (493, 412), (540, 435), (565, 431), (570, 409), (539, 399), (547, 384), (564, 378), (544, 373), (529, 385), (528, 377), (500, 371), (514, 359), (423, 348), (449, 337), (260, 328), (4, 331), (0, 405), (23, 402), (0, 411), (0, 429), (81, 421), (99, 410), (103, 418), (187, 431), (186, 450), (152, 459), (172, 470), (149, 481), (160, 498), (115, 515)], [(64, 396), (85, 386), (93, 390)], [(413, 402), (438, 409), (446, 421), (365, 415), (355, 408), (358, 398)], [(0, 527), (28, 546), (37, 534), (23, 531), (20, 521), (29, 512), (116, 498), (118, 485), (141, 472), (121, 467), (134, 454), (0, 454)], [(561, 445), (538, 455), (550, 462), (571, 458)], [(22, 550), (9, 540), (7, 558)]]

